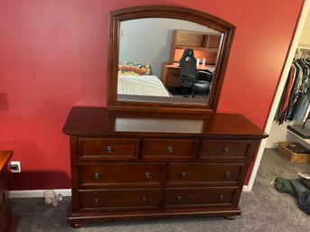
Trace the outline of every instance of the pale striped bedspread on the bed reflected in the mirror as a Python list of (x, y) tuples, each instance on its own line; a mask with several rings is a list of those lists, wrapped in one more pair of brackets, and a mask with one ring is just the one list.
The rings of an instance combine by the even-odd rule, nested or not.
[(154, 75), (118, 76), (117, 94), (171, 97), (162, 81)]

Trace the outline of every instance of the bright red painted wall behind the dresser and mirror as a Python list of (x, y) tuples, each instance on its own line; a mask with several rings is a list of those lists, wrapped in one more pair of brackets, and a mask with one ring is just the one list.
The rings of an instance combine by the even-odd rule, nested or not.
[(2, 0), (0, 149), (22, 172), (13, 190), (70, 188), (72, 106), (107, 102), (108, 13), (134, 5), (180, 5), (236, 25), (219, 112), (264, 127), (302, 0)]

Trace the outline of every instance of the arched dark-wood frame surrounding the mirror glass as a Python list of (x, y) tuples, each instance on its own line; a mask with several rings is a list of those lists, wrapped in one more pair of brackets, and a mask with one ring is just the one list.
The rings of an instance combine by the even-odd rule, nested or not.
[[(171, 18), (200, 23), (223, 33), (221, 51), (217, 68), (214, 73), (214, 82), (208, 105), (171, 104), (160, 102), (135, 102), (117, 100), (117, 70), (119, 54), (120, 23), (127, 20), (142, 18)], [(235, 26), (210, 14), (193, 9), (167, 6), (137, 6), (120, 9), (110, 13), (109, 22), (109, 54), (108, 54), (108, 109), (109, 110), (135, 110), (160, 111), (174, 113), (214, 113), (221, 94), (221, 86), (225, 75), (230, 47), (235, 32)]]

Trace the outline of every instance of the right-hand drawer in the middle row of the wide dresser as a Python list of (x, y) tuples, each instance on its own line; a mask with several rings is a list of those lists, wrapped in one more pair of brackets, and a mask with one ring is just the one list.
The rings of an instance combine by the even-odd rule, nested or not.
[(168, 185), (238, 184), (244, 164), (171, 163), (168, 166)]

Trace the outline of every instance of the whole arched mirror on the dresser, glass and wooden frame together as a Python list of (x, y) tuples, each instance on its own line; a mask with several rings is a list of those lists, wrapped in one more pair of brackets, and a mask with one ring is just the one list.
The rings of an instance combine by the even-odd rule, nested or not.
[(108, 109), (215, 112), (233, 25), (188, 8), (141, 6), (112, 12), (109, 30)]

